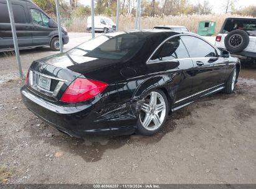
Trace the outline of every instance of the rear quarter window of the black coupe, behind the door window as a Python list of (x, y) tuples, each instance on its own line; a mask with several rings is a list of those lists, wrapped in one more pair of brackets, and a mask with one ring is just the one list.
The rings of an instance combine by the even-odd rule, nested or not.
[(150, 60), (172, 60), (175, 58), (189, 58), (187, 50), (180, 39), (180, 37), (174, 37), (165, 42)]

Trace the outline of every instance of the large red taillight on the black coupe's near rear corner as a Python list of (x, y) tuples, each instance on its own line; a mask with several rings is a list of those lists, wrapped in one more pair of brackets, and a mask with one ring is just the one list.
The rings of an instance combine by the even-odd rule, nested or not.
[(107, 83), (102, 81), (77, 78), (62, 94), (60, 101), (71, 103), (85, 101), (101, 93), (107, 85)]

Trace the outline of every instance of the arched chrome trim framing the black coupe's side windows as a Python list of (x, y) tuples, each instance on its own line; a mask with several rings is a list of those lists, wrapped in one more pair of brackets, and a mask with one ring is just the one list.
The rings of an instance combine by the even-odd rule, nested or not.
[[(214, 48), (214, 50), (216, 50), (216, 53), (217, 55), (219, 56), (219, 50), (217, 50), (216, 47), (214, 47), (214, 45), (210, 44), (206, 39), (202, 38), (201, 36), (199, 35), (194, 35), (194, 34), (176, 34), (176, 35), (172, 35), (171, 37), (168, 37), (166, 38), (165, 40), (163, 40), (163, 42), (161, 42), (160, 45), (158, 45), (158, 47), (156, 47), (156, 49), (154, 50), (154, 52), (150, 55), (150, 57), (148, 58), (148, 60), (146, 61), (146, 64), (148, 64), (149, 60), (151, 57), (153, 57), (154, 53), (156, 53), (156, 51), (158, 50), (158, 48), (160, 48), (165, 42), (167, 42), (168, 40), (170, 39), (173, 39), (174, 37), (179, 37), (179, 36), (191, 36), (191, 37), (196, 37), (198, 39), (201, 39), (203, 40), (204, 42), (206, 42), (207, 44), (211, 45), (212, 48)], [(181, 39), (182, 40), (182, 39)], [(187, 49), (186, 45), (184, 44), (185, 48)], [(187, 50), (187, 53), (189, 54), (189, 51)], [(190, 55), (189, 55), (189, 58)], [(218, 57), (192, 57), (192, 58), (218, 58)], [(184, 60), (184, 59), (187, 59), (187, 58), (174, 58), (174, 59), (171, 59), (171, 60)]]

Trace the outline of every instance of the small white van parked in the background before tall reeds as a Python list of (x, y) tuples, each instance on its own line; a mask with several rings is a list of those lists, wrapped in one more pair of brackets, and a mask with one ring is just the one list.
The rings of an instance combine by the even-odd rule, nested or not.
[[(95, 16), (94, 17), (94, 29), (99, 32), (115, 32), (116, 24), (108, 17)], [(92, 17), (87, 19), (87, 30), (92, 33)]]

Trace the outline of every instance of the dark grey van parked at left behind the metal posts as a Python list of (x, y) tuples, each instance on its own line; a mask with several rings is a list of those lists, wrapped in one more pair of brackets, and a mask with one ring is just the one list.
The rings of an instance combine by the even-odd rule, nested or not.
[[(19, 48), (50, 46), (59, 50), (57, 24), (42, 9), (29, 0), (11, 0)], [(69, 42), (62, 27), (62, 40)], [(0, 0), (0, 51), (12, 50), (12, 30), (6, 0)]]

